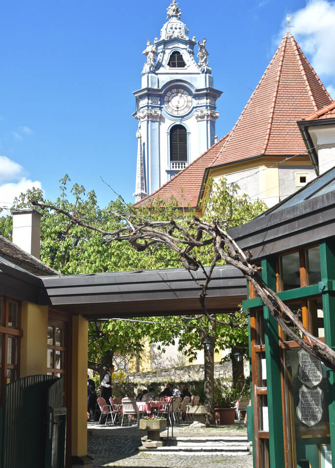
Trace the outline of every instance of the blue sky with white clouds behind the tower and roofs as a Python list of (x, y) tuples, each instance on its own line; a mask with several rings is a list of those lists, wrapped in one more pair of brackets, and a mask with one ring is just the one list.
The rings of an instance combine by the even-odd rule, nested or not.
[[(46, 197), (59, 179), (94, 189), (105, 206), (135, 185), (142, 51), (159, 37), (168, 0), (60, 0), (2, 4), (0, 206), (31, 185)], [(180, 0), (190, 37), (207, 38), (218, 100), (216, 134), (235, 123), (282, 35), (292, 32), (335, 97), (335, 3), (326, 0)], [(196, 51), (197, 52), (197, 51)]]

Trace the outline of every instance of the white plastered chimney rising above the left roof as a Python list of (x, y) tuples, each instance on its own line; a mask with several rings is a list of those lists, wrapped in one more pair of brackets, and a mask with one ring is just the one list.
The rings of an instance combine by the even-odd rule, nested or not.
[(40, 258), (41, 215), (35, 210), (13, 210), (13, 244)]

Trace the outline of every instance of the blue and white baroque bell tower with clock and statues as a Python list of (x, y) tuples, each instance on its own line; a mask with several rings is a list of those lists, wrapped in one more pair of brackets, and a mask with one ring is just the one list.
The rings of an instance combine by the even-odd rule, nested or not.
[[(206, 39), (189, 39), (173, 0), (160, 39), (148, 40), (136, 98), (138, 138), (135, 199), (141, 200), (214, 144), (216, 99)], [(199, 51), (194, 59), (194, 46)]]

